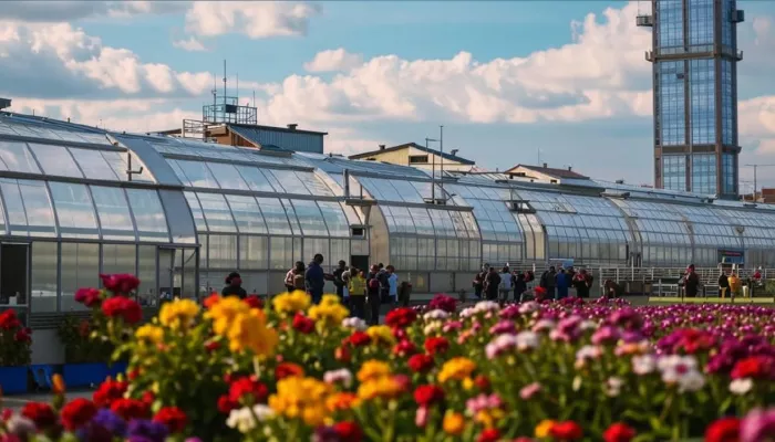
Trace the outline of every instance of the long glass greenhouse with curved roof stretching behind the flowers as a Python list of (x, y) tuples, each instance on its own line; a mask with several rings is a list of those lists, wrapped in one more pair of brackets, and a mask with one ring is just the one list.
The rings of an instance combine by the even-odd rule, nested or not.
[[(0, 115), (0, 305), (80, 308), (100, 273), (135, 273), (142, 304), (202, 296), (239, 271), (273, 294), (293, 262), (393, 264), (415, 293), (468, 290), (482, 263), (775, 265), (767, 206), (503, 173), (112, 134)], [(34, 323), (34, 322), (33, 322)]]

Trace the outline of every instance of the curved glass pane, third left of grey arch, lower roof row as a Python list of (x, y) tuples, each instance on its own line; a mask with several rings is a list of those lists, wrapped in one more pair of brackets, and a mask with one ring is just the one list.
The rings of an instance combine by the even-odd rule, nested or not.
[(62, 238), (96, 240), (100, 238), (94, 204), (85, 185), (49, 182), (56, 208), (59, 233)]

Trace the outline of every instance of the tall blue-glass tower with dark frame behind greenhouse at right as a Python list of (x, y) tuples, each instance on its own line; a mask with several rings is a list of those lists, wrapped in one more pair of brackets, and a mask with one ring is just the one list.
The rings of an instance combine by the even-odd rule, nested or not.
[(654, 185), (657, 188), (737, 196), (735, 0), (651, 0), (653, 28)]

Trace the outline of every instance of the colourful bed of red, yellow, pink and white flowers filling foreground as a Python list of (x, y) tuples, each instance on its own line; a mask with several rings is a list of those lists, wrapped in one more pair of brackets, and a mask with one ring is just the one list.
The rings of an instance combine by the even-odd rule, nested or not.
[[(457, 312), (438, 296), (366, 328), (335, 296), (311, 306), (296, 292), (266, 306), (175, 301), (138, 326), (124, 296), (135, 287), (120, 281), (90, 297), (114, 356), (130, 359), (127, 378), (63, 408), (60, 386), (53, 408), (28, 406), (6, 431), (25, 422), (52, 440), (61, 428), (137, 441), (775, 438), (771, 308), (570, 299)], [(84, 439), (93, 434), (108, 439)]]

